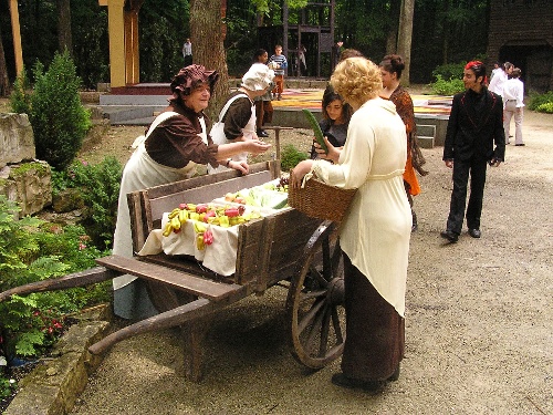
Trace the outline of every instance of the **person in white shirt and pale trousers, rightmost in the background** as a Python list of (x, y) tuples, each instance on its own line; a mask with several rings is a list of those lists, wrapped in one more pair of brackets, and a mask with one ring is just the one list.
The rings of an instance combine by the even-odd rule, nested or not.
[[(509, 137), (511, 118), (514, 116), (514, 145), (523, 146), (522, 141), (522, 118), (524, 108), (524, 83), (520, 80), (522, 71), (514, 68), (511, 72), (511, 79), (503, 86), (503, 128), (505, 137)], [(509, 144), (509, 138), (507, 138)]]

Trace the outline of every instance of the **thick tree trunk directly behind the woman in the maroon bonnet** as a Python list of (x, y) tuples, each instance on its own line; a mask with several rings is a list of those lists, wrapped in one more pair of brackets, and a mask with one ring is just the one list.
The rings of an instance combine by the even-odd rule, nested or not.
[(212, 121), (217, 118), (230, 92), (227, 54), (223, 45), (227, 28), (222, 18), (226, 6), (226, 0), (190, 1), (190, 40), (194, 63), (219, 73), (219, 81), (207, 110), (207, 115)]

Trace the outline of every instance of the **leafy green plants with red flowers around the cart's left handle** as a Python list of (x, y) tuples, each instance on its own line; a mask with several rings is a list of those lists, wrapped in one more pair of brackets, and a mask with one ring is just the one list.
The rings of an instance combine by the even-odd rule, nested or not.
[[(18, 211), (0, 196), (0, 291), (92, 268), (102, 256), (87, 245), (81, 227), (62, 228), (30, 217), (17, 220)], [(96, 284), (1, 302), (0, 359), (40, 355), (63, 331), (64, 314), (106, 301), (108, 290), (108, 284)]]

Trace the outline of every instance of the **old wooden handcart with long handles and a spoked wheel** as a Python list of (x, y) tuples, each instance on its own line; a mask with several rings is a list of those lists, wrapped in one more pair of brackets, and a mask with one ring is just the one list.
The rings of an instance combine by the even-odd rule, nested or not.
[[(258, 186), (280, 177), (279, 162), (250, 166), (250, 174), (236, 170), (153, 187), (127, 195), (136, 252), (163, 214), (179, 204), (206, 203), (227, 193)], [(213, 313), (252, 293), (271, 287), (288, 288), (286, 314), (292, 354), (311, 369), (340, 357), (344, 346), (343, 266), (335, 224), (310, 218), (285, 208), (239, 225), (236, 273), (222, 277), (184, 256), (109, 256), (100, 267), (60, 279), (40, 281), (0, 293), (12, 294), (83, 287), (133, 274), (147, 282), (160, 312), (114, 332), (88, 350), (106, 351), (129, 336), (180, 326), (185, 346), (185, 375), (198, 382), (202, 375), (202, 340)]]

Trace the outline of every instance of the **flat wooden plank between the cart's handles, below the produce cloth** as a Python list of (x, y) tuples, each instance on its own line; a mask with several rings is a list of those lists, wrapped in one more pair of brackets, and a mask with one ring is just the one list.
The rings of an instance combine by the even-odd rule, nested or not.
[(167, 267), (138, 261), (134, 258), (113, 255), (96, 259), (96, 262), (106, 268), (147, 280), (166, 283), (175, 289), (184, 290), (212, 301), (220, 301), (242, 289), (242, 286), (213, 282)]

